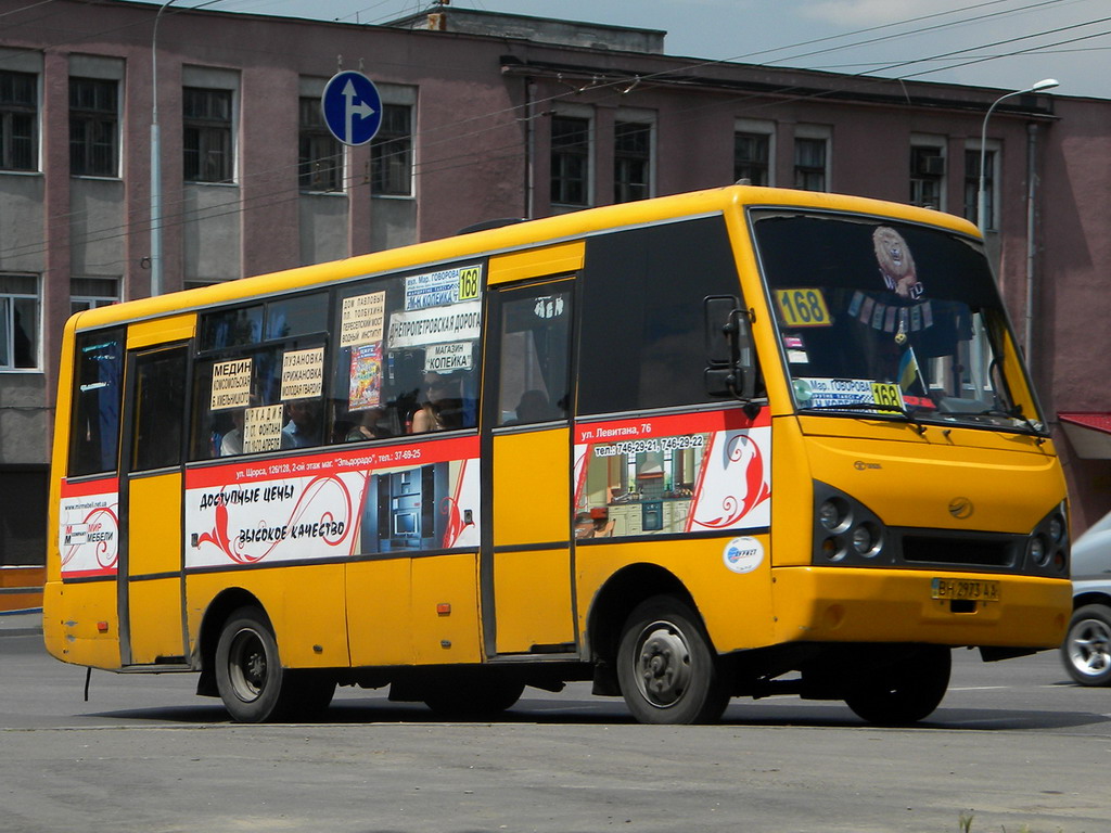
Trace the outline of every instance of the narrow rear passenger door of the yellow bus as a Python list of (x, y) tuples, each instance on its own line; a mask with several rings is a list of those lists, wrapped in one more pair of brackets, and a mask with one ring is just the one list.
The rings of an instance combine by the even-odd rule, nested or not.
[(118, 576), (122, 665), (186, 661), (181, 543), (189, 350), (150, 344), (156, 339), (148, 331), (157, 325), (164, 338), (169, 324), (169, 334), (182, 335), (181, 327), (189, 330), (193, 320), (128, 331)]

